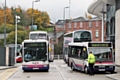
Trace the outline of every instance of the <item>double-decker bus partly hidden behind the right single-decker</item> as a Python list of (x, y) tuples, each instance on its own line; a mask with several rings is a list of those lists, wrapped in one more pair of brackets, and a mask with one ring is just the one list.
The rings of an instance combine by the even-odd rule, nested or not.
[(89, 42), (92, 40), (92, 34), (89, 30), (75, 30), (73, 32), (69, 32), (64, 34), (63, 38), (63, 57), (64, 61), (67, 63), (68, 61), (68, 43), (70, 42)]

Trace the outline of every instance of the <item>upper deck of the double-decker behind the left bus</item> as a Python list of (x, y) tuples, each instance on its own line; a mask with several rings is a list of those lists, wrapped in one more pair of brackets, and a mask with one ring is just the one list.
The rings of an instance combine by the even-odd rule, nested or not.
[(29, 39), (45, 39), (48, 40), (48, 33), (47, 31), (31, 31), (29, 33)]

